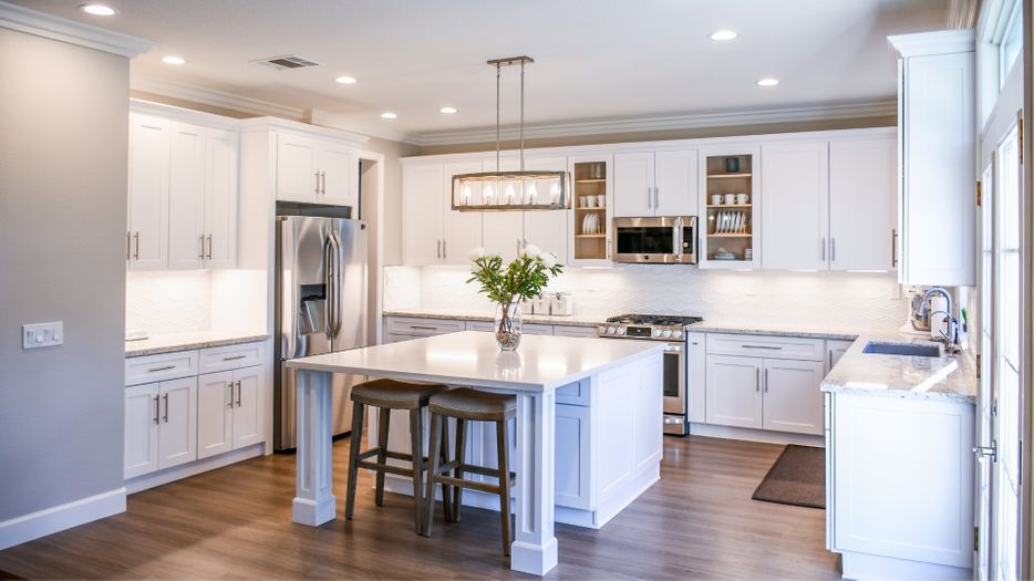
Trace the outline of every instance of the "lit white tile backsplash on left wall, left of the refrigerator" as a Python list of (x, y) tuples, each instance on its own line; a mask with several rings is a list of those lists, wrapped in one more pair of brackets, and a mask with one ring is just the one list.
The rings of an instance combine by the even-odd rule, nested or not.
[(152, 335), (211, 328), (207, 270), (126, 272), (126, 329)]

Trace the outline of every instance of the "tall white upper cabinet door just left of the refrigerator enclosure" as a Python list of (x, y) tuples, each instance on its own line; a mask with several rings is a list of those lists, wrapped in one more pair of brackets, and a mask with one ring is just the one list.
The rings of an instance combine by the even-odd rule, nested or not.
[(208, 142), (205, 232), (208, 268), (237, 266), (238, 135), (213, 131)]

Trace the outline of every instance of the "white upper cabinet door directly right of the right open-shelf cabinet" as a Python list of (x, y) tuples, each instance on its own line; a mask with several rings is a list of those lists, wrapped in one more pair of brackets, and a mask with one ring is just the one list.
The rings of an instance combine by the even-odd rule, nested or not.
[(826, 269), (829, 257), (829, 144), (762, 147), (762, 246), (766, 269)]

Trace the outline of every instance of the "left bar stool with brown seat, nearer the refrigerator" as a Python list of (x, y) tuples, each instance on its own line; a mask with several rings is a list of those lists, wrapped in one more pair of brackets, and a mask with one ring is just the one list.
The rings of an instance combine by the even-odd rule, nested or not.
[[(427, 459), (423, 455), (423, 411), (427, 403), (436, 393), (447, 390), (445, 385), (428, 383), (406, 383), (395, 380), (374, 380), (361, 383), (352, 387), (352, 442), (351, 454), (349, 455), (349, 487), (348, 499), (344, 505), (344, 517), (352, 518), (352, 509), (355, 506), (355, 480), (359, 476), (359, 469), (365, 468), (376, 473), (376, 505), (381, 506), (384, 501), (384, 474), (397, 474), (409, 476), (413, 479), (413, 501), (416, 504), (416, 533), (423, 532), (423, 489), (421, 487), (421, 477), (427, 469)], [(363, 419), (366, 417), (366, 406), (380, 408), (380, 421), (378, 422), (378, 445), (366, 452), (360, 452), (362, 445)], [(410, 411), (410, 436), (411, 454), (400, 452), (390, 452), (387, 449), (387, 428), (391, 422), (392, 409)], [(438, 444), (435, 444), (438, 446)], [(442, 454), (445, 453), (444, 443)], [(431, 448), (434, 450), (435, 448)], [(369, 461), (366, 458), (376, 456), (376, 461)], [(437, 458), (433, 452), (430, 456)], [(409, 468), (387, 464), (387, 459), (406, 460), (411, 463)], [(442, 487), (443, 495), (446, 488)]]

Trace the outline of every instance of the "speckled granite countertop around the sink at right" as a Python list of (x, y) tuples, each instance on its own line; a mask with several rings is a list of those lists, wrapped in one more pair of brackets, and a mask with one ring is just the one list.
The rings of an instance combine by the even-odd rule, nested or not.
[(912, 357), (862, 353), (862, 349), (869, 341), (927, 342), (916, 336), (895, 333), (864, 334), (855, 341), (823, 380), (824, 392), (976, 402), (979, 381), (969, 355), (961, 353), (959, 355), (942, 354), (939, 357)]

